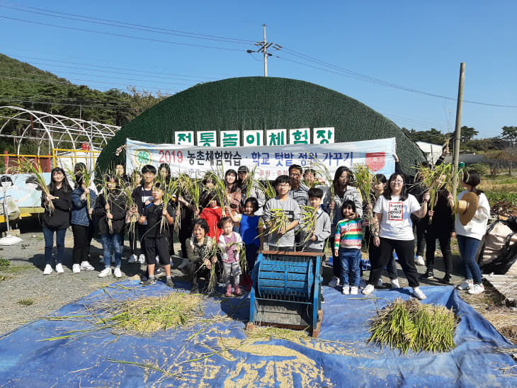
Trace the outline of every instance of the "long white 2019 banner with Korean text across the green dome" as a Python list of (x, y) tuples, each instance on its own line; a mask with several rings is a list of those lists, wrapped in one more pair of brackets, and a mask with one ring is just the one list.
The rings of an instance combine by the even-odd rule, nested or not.
[(289, 166), (299, 164), (310, 168), (312, 159), (318, 159), (334, 174), (339, 166), (363, 164), (375, 173), (390, 176), (394, 171), (395, 138), (364, 140), (334, 144), (283, 145), (274, 147), (186, 147), (177, 144), (150, 144), (127, 139), (126, 166), (130, 173), (146, 164), (157, 167), (169, 164), (171, 173), (187, 173), (203, 177), (208, 171), (255, 168), (256, 178), (275, 179), (288, 175)]

